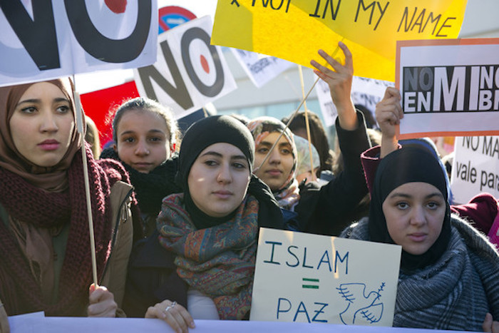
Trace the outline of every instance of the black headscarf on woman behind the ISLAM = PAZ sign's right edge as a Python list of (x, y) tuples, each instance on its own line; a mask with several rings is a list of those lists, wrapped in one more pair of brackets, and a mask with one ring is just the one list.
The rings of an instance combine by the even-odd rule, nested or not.
[(447, 249), (451, 237), (451, 209), (448, 204), (446, 177), (438, 160), (421, 148), (403, 147), (387, 155), (379, 164), (369, 209), (370, 240), (394, 244), (386, 226), (383, 203), (398, 186), (414, 182), (428, 183), (442, 193), (446, 202), (446, 215), (437, 240), (422, 255), (411, 255), (402, 251), (402, 270), (415, 270), (430, 265)]

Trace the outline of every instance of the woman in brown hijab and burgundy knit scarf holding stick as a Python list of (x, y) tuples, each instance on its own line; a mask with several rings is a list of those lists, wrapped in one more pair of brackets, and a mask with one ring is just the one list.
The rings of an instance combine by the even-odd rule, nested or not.
[[(132, 245), (128, 175), (81, 146), (68, 78), (0, 88), (0, 117), (1, 332), (6, 314), (115, 317)], [(81, 149), (102, 287), (92, 283)]]

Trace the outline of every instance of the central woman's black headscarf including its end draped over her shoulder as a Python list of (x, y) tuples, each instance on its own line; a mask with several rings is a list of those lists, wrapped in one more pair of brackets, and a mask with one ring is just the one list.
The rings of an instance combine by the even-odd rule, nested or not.
[[(235, 215), (237, 210), (225, 217), (211, 217), (197, 208), (190, 196), (187, 183), (190, 168), (192, 168), (192, 164), (202, 150), (215, 143), (230, 143), (239, 148), (247, 158), (249, 173), (252, 173), (254, 140), (243, 123), (231, 116), (211, 116), (197, 121), (187, 129), (182, 139), (182, 145), (180, 145), (177, 182), (184, 190), (185, 208), (192, 218), (192, 223), (198, 229), (227, 222)], [(258, 224), (263, 227), (281, 228), (283, 224), (282, 213), (267, 185), (252, 176), (248, 193), (259, 200)]]

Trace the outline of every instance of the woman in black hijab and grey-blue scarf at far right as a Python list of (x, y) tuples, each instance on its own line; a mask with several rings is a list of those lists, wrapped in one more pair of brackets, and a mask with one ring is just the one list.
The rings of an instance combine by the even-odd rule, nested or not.
[(425, 150), (393, 151), (376, 172), (369, 217), (341, 236), (401, 245), (393, 326), (492, 332), (492, 317), (499, 317), (498, 252), (451, 216), (446, 177)]

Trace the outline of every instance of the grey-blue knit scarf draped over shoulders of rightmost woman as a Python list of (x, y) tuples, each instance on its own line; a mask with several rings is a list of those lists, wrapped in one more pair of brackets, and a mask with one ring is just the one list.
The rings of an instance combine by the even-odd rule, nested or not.
[[(368, 219), (340, 237), (369, 240)], [(481, 331), (485, 314), (499, 319), (499, 255), (490, 242), (459, 217), (441, 258), (421, 270), (400, 272), (394, 327)]]

